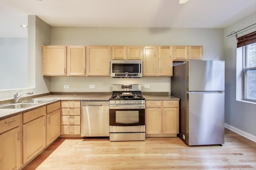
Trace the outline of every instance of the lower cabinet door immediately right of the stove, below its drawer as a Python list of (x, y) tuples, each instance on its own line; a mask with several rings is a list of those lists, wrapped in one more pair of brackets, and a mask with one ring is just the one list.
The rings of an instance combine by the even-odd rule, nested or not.
[(146, 108), (146, 134), (161, 134), (161, 108)]

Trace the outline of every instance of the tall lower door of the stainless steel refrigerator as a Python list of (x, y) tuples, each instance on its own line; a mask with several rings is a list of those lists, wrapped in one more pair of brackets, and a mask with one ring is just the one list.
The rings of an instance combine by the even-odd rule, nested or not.
[(224, 92), (188, 93), (188, 145), (224, 143)]

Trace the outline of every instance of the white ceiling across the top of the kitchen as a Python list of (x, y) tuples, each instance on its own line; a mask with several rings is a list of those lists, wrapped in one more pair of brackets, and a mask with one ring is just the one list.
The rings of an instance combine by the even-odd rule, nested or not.
[(27, 37), (28, 15), (51, 26), (224, 28), (255, 11), (256, 0), (0, 0), (0, 37)]

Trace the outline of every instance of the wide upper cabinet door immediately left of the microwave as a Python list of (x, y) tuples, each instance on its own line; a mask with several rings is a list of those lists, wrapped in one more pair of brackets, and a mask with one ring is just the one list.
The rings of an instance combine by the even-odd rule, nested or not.
[(86, 75), (110, 76), (110, 46), (88, 46), (86, 49)]

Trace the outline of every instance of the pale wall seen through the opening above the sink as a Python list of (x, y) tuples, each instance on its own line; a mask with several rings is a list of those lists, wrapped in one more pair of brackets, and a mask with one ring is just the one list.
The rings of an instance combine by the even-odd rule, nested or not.
[(28, 38), (0, 38), (0, 51), (0, 90), (28, 87)]

